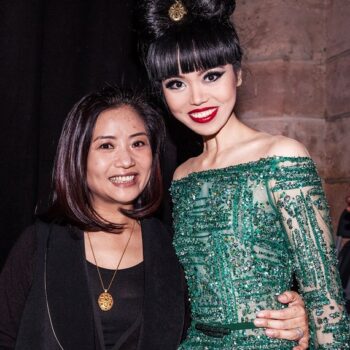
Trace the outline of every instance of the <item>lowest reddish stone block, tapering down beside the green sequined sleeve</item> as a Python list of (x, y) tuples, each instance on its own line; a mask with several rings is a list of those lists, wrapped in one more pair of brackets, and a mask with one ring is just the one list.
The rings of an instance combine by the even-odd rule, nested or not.
[(350, 194), (350, 181), (340, 183), (324, 183), (323, 188), (330, 207), (334, 232), (336, 232), (339, 217), (345, 209), (345, 197)]

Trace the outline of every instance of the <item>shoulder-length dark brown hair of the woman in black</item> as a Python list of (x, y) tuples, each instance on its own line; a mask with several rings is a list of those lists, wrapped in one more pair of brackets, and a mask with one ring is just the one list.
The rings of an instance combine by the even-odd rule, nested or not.
[(118, 232), (122, 224), (101, 218), (94, 210), (87, 186), (87, 157), (93, 129), (98, 116), (110, 109), (130, 106), (143, 120), (152, 148), (150, 179), (135, 200), (133, 209), (120, 211), (126, 216), (141, 219), (152, 214), (162, 197), (160, 153), (165, 139), (165, 126), (160, 113), (139, 92), (105, 86), (78, 101), (68, 113), (59, 139), (54, 170), (53, 203), (46, 219), (72, 224), (87, 231)]

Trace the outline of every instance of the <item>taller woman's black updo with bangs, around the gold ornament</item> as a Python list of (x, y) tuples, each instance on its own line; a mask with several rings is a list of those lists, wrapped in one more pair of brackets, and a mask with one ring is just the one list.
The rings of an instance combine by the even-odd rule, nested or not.
[[(153, 83), (182, 73), (232, 64), (240, 69), (242, 49), (230, 16), (234, 0), (144, 0), (139, 16), (140, 48)], [(172, 5), (186, 13), (174, 21)]]

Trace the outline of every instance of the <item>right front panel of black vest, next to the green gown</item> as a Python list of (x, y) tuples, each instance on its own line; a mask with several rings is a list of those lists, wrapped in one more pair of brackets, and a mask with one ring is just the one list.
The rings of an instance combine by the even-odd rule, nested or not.
[(158, 220), (142, 221), (145, 266), (139, 349), (172, 350), (180, 343), (184, 295), (181, 270), (168, 232)]

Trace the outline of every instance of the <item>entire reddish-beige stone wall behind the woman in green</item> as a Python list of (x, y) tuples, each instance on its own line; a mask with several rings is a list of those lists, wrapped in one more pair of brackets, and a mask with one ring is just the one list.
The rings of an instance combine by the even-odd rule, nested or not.
[(349, 0), (238, 0), (234, 15), (245, 53), (237, 114), (307, 147), (334, 225), (350, 193), (349, 18)]

